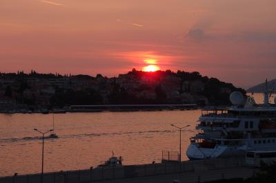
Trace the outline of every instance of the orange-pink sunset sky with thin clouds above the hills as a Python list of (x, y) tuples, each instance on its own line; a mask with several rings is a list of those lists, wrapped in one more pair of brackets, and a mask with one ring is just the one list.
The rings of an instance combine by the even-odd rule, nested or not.
[(153, 64), (238, 87), (276, 78), (275, 0), (0, 0), (0, 72)]

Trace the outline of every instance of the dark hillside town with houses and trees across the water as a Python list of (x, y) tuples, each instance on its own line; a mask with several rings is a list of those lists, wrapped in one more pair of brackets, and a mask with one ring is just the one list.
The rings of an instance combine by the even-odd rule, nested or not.
[(35, 71), (0, 73), (0, 111), (65, 109), (70, 105), (229, 105), (233, 91), (245, 94), (244, 89), (199, 72), (132, 69), (112, 78)]

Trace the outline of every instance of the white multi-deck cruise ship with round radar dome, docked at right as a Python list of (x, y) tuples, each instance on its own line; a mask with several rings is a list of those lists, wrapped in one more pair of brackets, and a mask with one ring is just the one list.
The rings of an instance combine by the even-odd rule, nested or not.
[(233, 107), (202, 110), (196, 127), (199, 133), (190, 138), (187, 157), (202, 160), (240, 156), (246, 151), (275, 151), (276, 106), (268, 103), (269, 94), (266, 81), (262, 105), (255, 104), (252, 96), (233, 92)]

